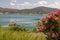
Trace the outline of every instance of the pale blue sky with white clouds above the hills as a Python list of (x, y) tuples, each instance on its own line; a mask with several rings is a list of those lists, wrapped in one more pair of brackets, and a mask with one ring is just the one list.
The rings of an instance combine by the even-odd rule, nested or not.
[(0, 0), (0, 7), (30, 9), (35, 7), (60, 8), (60, 0)]

